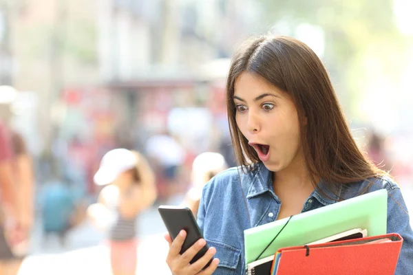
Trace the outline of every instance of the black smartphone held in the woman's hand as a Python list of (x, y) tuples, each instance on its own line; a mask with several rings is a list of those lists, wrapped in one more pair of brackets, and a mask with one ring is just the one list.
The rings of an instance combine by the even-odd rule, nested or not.
[[(159, 206), (158, 212), (160, 217), (165, 223), (169, 235), (171, 235), (172, 240), (178, 236), (180, 230), (185, 230), (187, 232), (187, 238), (182, 244), (182, 249), (180, 254), (184, 253), (188, 248), (190, 248), (196, 241), (203, 239), (198, 223), (196, 223), (193, 217), (192, 211), (183, 206)], [(205, 253), (207, 253), (209, 247), (205, 245), (190, 261), (190, 263), (195, 263), (198, 261)], [(209, 261), (204, 268), (208, 267), (212, 262)]]

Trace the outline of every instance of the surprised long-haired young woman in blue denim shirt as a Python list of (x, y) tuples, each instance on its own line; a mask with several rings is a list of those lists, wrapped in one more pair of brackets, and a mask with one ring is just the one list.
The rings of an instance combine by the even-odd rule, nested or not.
[[(413, 232), (400, 188), (357, 148), (326, 69), (308, 46), (284, 36), (247, 41), (233, 57), (226, 91), (241, 166), (216, 175), (202, 192), (205, 240), (180, 255), (185, 232), (173, 242), (165, 236), (174, 275), (244, 274), (245, 229), (381, 188), (389, 194), (388, 232), (404, 239), (396, 274), (412, 272)], [(190, 265), (205, 241), (209, 252)]]

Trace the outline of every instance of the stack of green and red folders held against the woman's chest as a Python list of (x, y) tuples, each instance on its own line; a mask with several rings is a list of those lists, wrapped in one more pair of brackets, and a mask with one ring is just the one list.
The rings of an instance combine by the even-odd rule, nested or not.
[(387, 191), (244, 231), (248, 275), (394, 274), (403, 238), (386, 234)]

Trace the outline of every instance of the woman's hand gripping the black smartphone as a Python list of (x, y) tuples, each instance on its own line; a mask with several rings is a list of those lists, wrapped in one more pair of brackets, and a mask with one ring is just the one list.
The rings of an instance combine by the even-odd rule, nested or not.
[(218, 263), (220, 263), (219, 259), (213, 259), (211, 265), (207, 267), (205, 270), (202, 270), (207, 263), (212, 259), (213, 255), (217, 250), (215, 248), (209, 248), (207, 253), (204, 254), (198, 261), (195, 263), (190, 264), (189, 262), (193, 259), (193, 257), (200, 251), (204, 245), (206, 245), (206, 241), (204, 239), (199, 239), (196, 243), (194, 243), (191, 248), (188, 248), (182, 255), (179, 254), (182, 244), (187, 237), (187, 232), (185, 230), (181, 230), (178, 236), (172, 241), (171, 236), (169, 234), (165, 235), (165, 239), (169, 243), (169, 252), (167, 256), (167, 264), (169, 269), (171, 270), (173, 275), (211, 275), (217, 269)]

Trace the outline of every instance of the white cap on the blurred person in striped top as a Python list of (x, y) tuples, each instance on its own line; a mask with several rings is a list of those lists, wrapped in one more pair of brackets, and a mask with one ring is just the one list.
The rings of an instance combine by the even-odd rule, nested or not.
[(134, 168), (138, 159), (131, 151), (117, 148), (107, 152), (100, 162), (98, 172), (94, 175), (94, 183), (105, 185), (113, 182), (121, 173)]

